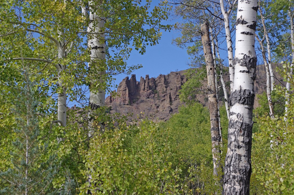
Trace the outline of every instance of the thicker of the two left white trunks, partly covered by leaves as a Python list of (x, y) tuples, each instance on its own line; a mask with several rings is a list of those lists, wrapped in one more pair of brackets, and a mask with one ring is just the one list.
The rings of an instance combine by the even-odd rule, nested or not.
[[(103, 30), (103, 26), (105, 23), (105, 18), (103, 17), (103, 1), (89, 1), (89, 19), (90, 23), (88, 26), (88, 48), (91, 50), (91, 62), (89, 63), (90, 72), (97, 74), (97, 78), (99, 80), (99, 76), (105, 74), (105, 72), (101, 72), (103, 67), (105, 67), (106, 53), (105, 53), (105, 35), (99, 34)], [(100, 69), (100, 70), (99, 70)], [(92, 75), (93, 76), (93, 75)], [(102, 76), (103, 77), (103, 76)], [(102, 81), (101, 79), (98, 81)], [(97, 80), (93, 80), (91, 82), (90, 88), (90, 107), (91, 110), (89, 112), (89, 137), (92, 135), (93, 129), (93, 117), (91, 116), (93, 110), (98, 109), (105, 105), (105, 90), (99, 88), (95, 89), (95, 83)], [(102, 83), (100, 83), (102, 84)], [(95, 90), (94, 90), (95, 89)], [(101, 129), (103, 129), (102, 123), (99, 123)]]

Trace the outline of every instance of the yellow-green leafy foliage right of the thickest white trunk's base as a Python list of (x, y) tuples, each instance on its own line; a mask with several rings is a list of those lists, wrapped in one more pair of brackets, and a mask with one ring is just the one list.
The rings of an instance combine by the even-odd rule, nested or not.
[[(284, 64), (286, 73), (289, 64)], [(293, 78), (290, 80), (293, 90)], [(285, 88), (276, 86), (275, 96), (285, 99)], [(294, 193), (294, 96), (290, 94), (288, 116), (276, 113), (271, 119), (267, 115), (258, 118), (258, 129), (253, 134), (253, 180), (254, 194), (293, 194)], [(261, 105), (262, 105), (261, 99)], [(280, 109), (278, 104), (275, 109)]]

